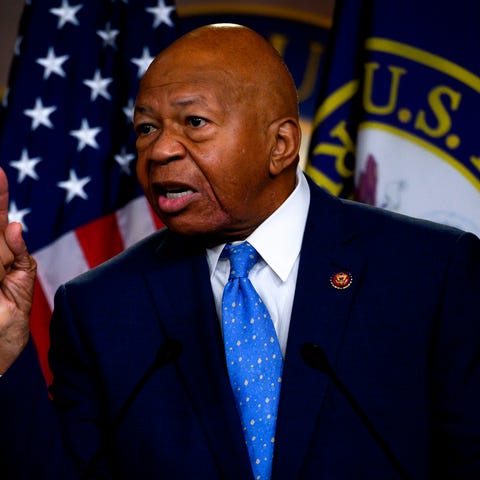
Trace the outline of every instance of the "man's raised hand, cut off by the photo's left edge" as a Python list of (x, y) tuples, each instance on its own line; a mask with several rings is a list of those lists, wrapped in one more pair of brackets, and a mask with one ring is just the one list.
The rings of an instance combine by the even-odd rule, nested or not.
[(21, 224), (8, 223), (8, 181), (0, 168), (0, 374), (27, 344), (36, 270)]

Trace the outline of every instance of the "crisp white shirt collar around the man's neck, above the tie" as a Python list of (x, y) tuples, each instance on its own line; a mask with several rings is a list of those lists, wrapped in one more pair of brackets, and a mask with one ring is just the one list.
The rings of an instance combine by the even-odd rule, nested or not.
[[(286, 281), (300, 254), (309, 204), (310, 189), (299, 167), (294, 191), (246, 239), (282, 281)], [(224, 246), (223, 243), (207, 249), (211, 275), (217, 267)]]

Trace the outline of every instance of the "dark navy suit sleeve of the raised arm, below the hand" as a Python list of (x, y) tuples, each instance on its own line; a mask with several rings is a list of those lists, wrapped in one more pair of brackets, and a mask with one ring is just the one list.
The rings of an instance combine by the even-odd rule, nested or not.
[[(101, 444), (99, 389), (64, 288), (56, 295), (51, 338), (50, 396), (32, 341), (0, 379), (2, 479), (91, 478), (85, 471)], [(109, 478), (103, 461), (94, 470)]]

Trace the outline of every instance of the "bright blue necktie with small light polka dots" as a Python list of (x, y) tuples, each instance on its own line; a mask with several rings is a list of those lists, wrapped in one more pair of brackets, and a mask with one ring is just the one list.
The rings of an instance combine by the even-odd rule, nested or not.
[(282, 375), (282, 352), (270, 314), (248, 279), (258, 260), (248, 243), (227, 244), (230, 277), (223, 292), (225, 353), (254, 477), (269, 479)]

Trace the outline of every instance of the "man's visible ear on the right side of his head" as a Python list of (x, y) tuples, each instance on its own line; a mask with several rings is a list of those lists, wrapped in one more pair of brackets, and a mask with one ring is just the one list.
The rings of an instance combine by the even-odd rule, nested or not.
[(270, 174), (276, 176), (298, 162), (302, 133), (295, 118), (276, 120), (271, 128), (275, 139), (270, 154)]

